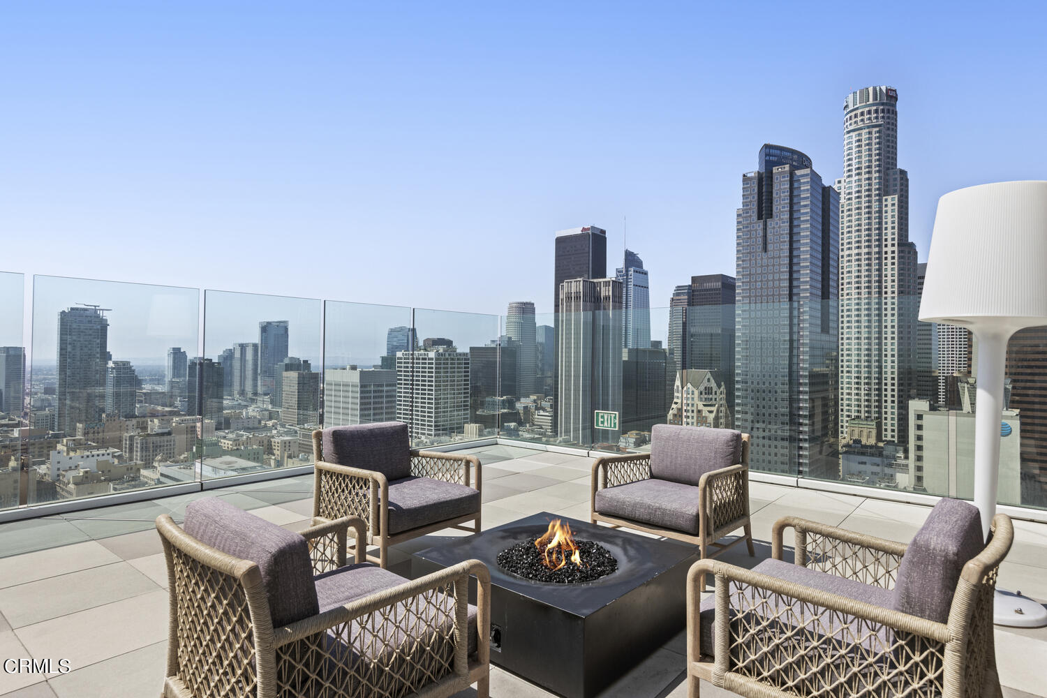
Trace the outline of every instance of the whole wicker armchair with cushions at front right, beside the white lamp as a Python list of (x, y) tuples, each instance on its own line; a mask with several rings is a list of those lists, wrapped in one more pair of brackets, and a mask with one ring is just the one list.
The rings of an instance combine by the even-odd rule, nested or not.
[[(782, 560), (796, 532), (795, 564)], [(688, 695), (699, 679), (742, 696), (1000, 696), (997, 570), (1013, 539), (998, 514), (942, 499), (908, 545), (785, 517), (754, 569), (700, 560), (687, 595)], [(698, 578), (714, 575), (700, 602)]]

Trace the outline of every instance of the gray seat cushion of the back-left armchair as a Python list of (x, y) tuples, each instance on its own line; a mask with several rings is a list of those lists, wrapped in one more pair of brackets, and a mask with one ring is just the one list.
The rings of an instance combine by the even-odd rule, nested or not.
[(398, 534), (480, 511), (480, 492), (429, 477), (389, 482), (389, 530)]

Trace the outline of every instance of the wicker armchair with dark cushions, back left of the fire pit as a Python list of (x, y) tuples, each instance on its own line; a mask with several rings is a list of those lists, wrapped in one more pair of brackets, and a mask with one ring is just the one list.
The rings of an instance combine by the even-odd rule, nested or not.
[(366, 544), (378, 547), (367, 560), (382, 567), (389, 545), (443, 528), (481, 531), (480, 458), (411, 449), (402, 422), (317, 429), (313, 457), (314, 523), (360, 517)]

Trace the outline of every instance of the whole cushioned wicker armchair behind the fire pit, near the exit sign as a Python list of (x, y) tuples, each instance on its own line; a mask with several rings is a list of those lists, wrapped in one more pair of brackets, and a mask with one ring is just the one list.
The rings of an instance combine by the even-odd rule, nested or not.
[[(741, 541), (755, 555), (749, 440), (730, 429), (654, 425), (650, 453), (602, 456), (593, 464), (593, 523), (694, 543), (703, 558), (710, 548), (716, 556)], [(737, 528), (744, 535), (719, 542)]]

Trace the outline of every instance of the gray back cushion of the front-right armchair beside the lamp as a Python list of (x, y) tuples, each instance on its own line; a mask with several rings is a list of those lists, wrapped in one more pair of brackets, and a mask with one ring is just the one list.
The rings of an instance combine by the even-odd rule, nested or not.
[(895, 610), (948, 621), (960, 571), (984, 547), (978, 509), (959, 499), (939, 501), (901, 558), (894, 583)]

